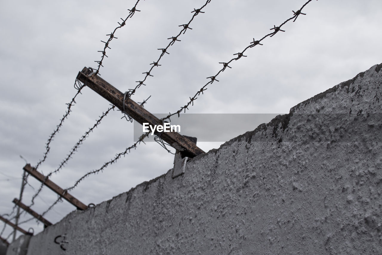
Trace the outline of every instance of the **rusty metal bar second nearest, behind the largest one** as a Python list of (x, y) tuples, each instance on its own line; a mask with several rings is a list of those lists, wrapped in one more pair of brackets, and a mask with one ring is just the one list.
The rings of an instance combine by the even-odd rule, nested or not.
[(46, 178), (42, 173), (38, 172), (35, 168), (31, 167), (30, 164), (26, 164), (23, 169), (29, 174), (31, 174), (34, 178), (44, 183), (48, 188), (53, 190), (55, 193), (57, 193), (59, 196), (64, 198), (66, 201), (73, 204), (77, 209), (79, 210), (87, 209), (87, 206), (85, 204), (81, 203), (77, 198), (74, 198), (74, 196), (70, 195), (68, 192), (60, 188), (60, 186), (55, 184), (53, 181)]

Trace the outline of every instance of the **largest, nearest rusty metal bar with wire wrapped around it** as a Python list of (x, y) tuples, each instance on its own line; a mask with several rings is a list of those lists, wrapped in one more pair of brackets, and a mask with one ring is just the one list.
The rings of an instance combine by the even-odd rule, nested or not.
[[(126, 113), (128, 113), (131, 118), (138, 121), (138, 123), (149, 123), (152, 126), (163, 125), (163, 122), (160, 119), (149, 113), (146, 109), (133, 100), (126, 98), (124, 102), (124, 94), (122, 92), (98, 75), (89, 76), (91, 73), (92, 69), (84, 67), (84, 69), (78, 73), (77, 79), (86, 84), (87, 87), (97, 92), (107, 101), (117, 106), (120, 110), (125, 109)], [(125, 107), (123, 107), (123, 105), (125, 105)], [(204, 153), (202, 149), (197, 147), (193, 144), (193, 142), (189, 141), (189, 139), (183, 137), (178, 132), (160, 132), (155, 134), (160, 134), (163, 141), (166, 141), (176, 150), (179, 150), (183, 156), (192, 158)]]

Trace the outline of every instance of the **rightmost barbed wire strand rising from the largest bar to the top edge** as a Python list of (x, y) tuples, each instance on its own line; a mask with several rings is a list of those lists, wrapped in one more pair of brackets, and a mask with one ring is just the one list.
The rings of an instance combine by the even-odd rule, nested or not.
[(217, 72), (217, 74), (215, 74), (214, 76), (207, 77), (207, 79), (210, 79), (210, 81), (207, 82), (203, 87), (201, 87), (201, 89), (200, 89), (198, 92), (196, 92), (196, 94), (195, 94), (193, 97), (190, 97), (190, 98), (189, 98), (190, 100), (187, 102), (187, 104), (186, 104), (185, 106), (181, 106), (180, 110), (178, 110), (178, 111), (176, 111), (176, 112), (174, 112), (174, 113), (169, 113), (166, 117), (162, 118), (162, 121), (164, 121), (165, 119), (170, 119), (170, 117), (173, 116), (173, 115), (175, 115), (175, 114), (178, 114), (178, 117), (179, 117), (179, 116), (180, 116), (180, 113), (181, 113), (182, 111), (186, 112), (186, 109), (188, 110), (188, 106), (190, 106), (190, 105), (193, 106), (193, 105), (194, 105), (194, 101), (197, 99), (197, 96), (199, 96), (200, 94), (203, 95), (203, 92), (204, 92), (205, 90), (207, 90), (207, 88), (206, 88), (207, 85), (212, 84), (214, 81), (219, 82), (219, 80), (217, 80), (216, 77), (217, 77), (221, 72), (223, 72), (227, 67), (232, 68), (232, 67), (229, 66), (229, 64), (230, 64), (233, 60), (238, 60), (238, 59), (240, 59), (241, 57), (246, 57), (246, 56), (244, 56), (244, 52), (245, 52), (247, 49), (252, 48), (252, 47), (254, 47), (254, 46), (256, 46), (256, 45), (263, 45), (263, 44), (261, 44), (260, 42), (261, 42), (262, 40), (264, 40), (265, 38), (267, 38), (268, 36), (272, 37), (272, 36), (274, 36), (278, 31), (285, 32), (284, 30), (281, 29), (281, 27), (282, 27), (283, 25), (285, 25), (288, 21), (292, 20), (293, 18), (295, 19), (295, 20), (293, 20), (293, 22), (295, 22), (296, 19), (297, 19), (297, 17), (298, 17), (300, 14), (306, 15), (306, 13), (301, 13), (301, 11), (302, 11), (303, 8), (304, 8), (309, 2), (311, 2), (311, 1), (312, 1), (312, 0), (309, 0), (308, 2), (304, 3), (304, 5), (303, 5), (298, 11), (292, 11), (292, 12), (293, 12), (293, 17), (288, 18), (288, 19), (287, 19), (286, 21), (284, 21), (280, 26), (275, 26), (275, 25), (274, 25), (273, 28), (270, 28), (270, 30), (274, 30), (272, 33), (269, 33), (269, 34), (265, 35), (264, 37), (262, 37), (261, 39), (256, 40), (256, 41), (255, 41), (255, 39), (253, 38), (253, 41), (251, 42), (251, 44), (249, 44), (247, 47), (245, 47), (243, 51), (233, 54), (234, 56), (237, 55), (237, 57), (231, 59), (231, 60), (228, 61), (228, 62), (219, 62), (219, 64), (223, 64), (223, 68), (220, 69), (219, 72)]

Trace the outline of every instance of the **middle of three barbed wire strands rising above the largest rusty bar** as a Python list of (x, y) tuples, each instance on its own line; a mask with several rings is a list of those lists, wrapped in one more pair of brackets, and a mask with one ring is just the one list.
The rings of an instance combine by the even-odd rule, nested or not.
[[(135, 92), (136, 92), (136, 90), (137, 90), (139, 87), (141, 87), (141, 85), (145, 85), (145, 84), (143, 84), (143, 83), (146, 81), (147, 77), (149, 77), (149, 76), (153, 76), (153, 75), (151, 75), (151, 71), (152, 71), (152, 69), (154, 69), (154, 67), (160, 66), (158, 63), (159, 63), (160, 59), (162, 59), (162, 57), (165, 55), (165, 53), (170, 54), (170, 53), (167, 52), (167, 50), (168, 50), (168, 48), (169, 48), (170, 46), (172, 46), (176, 41), (181, 41), (181, 40), (178, 39), (178, 38), (181, 36), (181, 34), (182, 34), (182, 33), (185, 34), (187, 29), (192, 29), (192, 28), (189, 27), (189, 25), (190, 25), (191, 22), (194, 20), (194, 18), (195, 18), (196, 15), (198, 15), (199, 13), (204, 13), (204, 11), (201, 11), (201, 10), (202, 10), (204, 7), (206, 7), (207, 4), (208, 4), (209, 2), (211, 2), (211, 0), (207, 0), (206, 3), (205, 3), (204, 5), (202, 5), (202, 7), (200, 7), (199, 9), (194, 9), (193, 11), (191, 11), (191, 13), (194, 13), (193, 16), (191, 17), (191, 20), (189, 20), (188, 23), (186, 23), (186, 24), (179, 25), (180, 27), (183, 27), (183, 28), (180, 30), (180, 32), (179, 32), (176, 36), (172, 36), (172, 37), (170, 37), (170, 38), (167, 38), (167, 39), (171, 40), (170, 43), (168, 43), (167, 47), (162, 48), (162, 49), (158, 49), (158, 50), (161, 51), (158, 60), (157, 60), (157, 61), (154, 61), (153, 63), (150, 64), (150, 65), (152, 65), (152, 66), (151, 66), (151, 68), (149, 69), (148, 72), (143, 72), (143, 73), (142, 73), (142, 74), (146, 74), (145, 77), (144, 77), (144, 79), (143, 79), (142, 81), (138, 81), (139, 84), (136, 85), (135, 88), (133, 88), (133, 89), (129, 89), (129, 97), (132, 96), (132, 95), (134, 95)], [(146, 86), (146, 85), (145, 85), (145, 86)]]

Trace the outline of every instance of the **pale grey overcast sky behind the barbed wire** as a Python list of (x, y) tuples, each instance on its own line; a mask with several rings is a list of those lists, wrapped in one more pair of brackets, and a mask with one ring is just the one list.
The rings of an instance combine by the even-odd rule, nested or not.
[[(19, 196), (25, 162), (36, 165), (45, 151), (50, 133), (59, 123), (76, 90), (78, 72), (97, 67), (100, 52), (120, 18), (128, 16), (135, 0), (127, 1), (3, 1), (0, 10), (0, 214), (9, 213)], [(100, 69), (102, 78), (125, 92), (142, 80), (160, 56), (158, 48), (188, 23), (194, 8), (205, 0), (141, 0), (126, 26), (118, 29)], [(185, 34), (168, 49), (134, 101), (151, 95), (145, 108), (152, 113), (177, 111), (185, 105), (234, 53), (270, 32), (293, 16), (305, 0), (212, 0), (194, 18)], [(380, 42), (380, 0), (312, 1), (296, 22), (266, 38), (262, 46), (230, 64), (217, 80), (198, 97), (188, 113), (288, 113), (301, 101), (353, 78), (382, 62)], [(109, 103), (89, 88), (76, 99), (73, 112), (51, 143), (47, 160), (39, 167), (45, 175), (55, 170), (73, 145), (107, 110)], [(104, 118), (78, 152), (51, 180), (62, 188), (73, 185), (84, 173), (133, 144), (133, 124), (114, 111)], [(264, 122), (264, 120), (262, 120)], [(262, 123), (261, 122), (261, 123)], [(227, 119), (230, 123), (230, 119)], [(216, 130), (228, 134), (227, 141), (256, 128), (253, 121), (227, 124)], [(260, 124), (260, 123), (259, 123)], [(197, 123), (208, 130), (208, 121)], [(238, 128), (240, 127), (240, 128)], [(185, 134), (189, 135), (189, 134)], [(225, 136), (227, 137), (227, 136)], [(198, 143), (203, 150), (222, 142)], [(139, 183), (166, 173), (173, 155), (154, 142), (142, 144), (103, 173), (84, 180), (70, 193), (84, 204), (101, 203), (128, 191)], [(39, 182), (28, 178), (23, 203), (30, 204)], [(32, 207), (42, 213), (57, 195), (44, 188)], [(75, 208), (64, 201), (46, 218), (55, 223)], [(23, 214), (21, 221), (28, 219)], [(0, 224), (0, 226), (3, 226)], [(42, 231), (42, 224), (30, 221), (21, 227)], [(11, 232), (6, 227), (2, 237)], [(19, 235), (19, 233), (18, 233)], [(11, 237), (8, 239), (11, 241)]]

